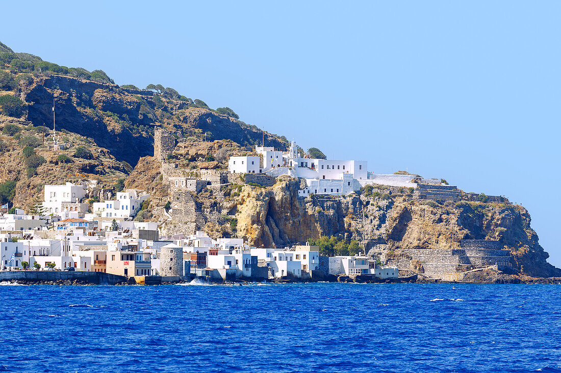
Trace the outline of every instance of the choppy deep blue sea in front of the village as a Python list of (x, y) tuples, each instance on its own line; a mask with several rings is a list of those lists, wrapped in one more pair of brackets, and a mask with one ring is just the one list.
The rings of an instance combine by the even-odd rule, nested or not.
[(561, 372), (559, 285), (0, 285), (0, 371)]

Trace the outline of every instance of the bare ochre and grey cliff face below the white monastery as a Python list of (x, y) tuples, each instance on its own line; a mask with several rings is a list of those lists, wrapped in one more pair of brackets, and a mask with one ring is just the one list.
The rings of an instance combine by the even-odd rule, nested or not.
[[(499, 240), (514, 267), (531, 276), (561, 276), (546, 262), (525, 208), (505, 203), (423, 201), (404, 188), (344, 197), (298, 198), (298, 180), (270, 188), (245, 186), (238, 198), (237, 234), (260, 247), (283, 247), (341, 235), (366, 250), (398, 256), (404, 249), (458, 249), (459, 240)], [(378, 192), (378, 193), (376, 193)]]

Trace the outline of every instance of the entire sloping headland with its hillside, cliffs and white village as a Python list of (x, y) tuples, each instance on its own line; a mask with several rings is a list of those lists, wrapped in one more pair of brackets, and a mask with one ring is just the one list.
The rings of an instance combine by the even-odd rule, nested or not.
[[(107, 256), (92, 257), (88, 269), (77, 259), (91, 251), (79, 244), (85, 241), (105, 253), (121, 244), (129, 266), (142, 253), (143, 267), (127, 267), (127, 276), (165, 273), (157, 260), (166, 245), (182, 248), (168, 249), (182, 251), (187, 277), (226, 278), (222, 267), (233, 260), (203, 260), (204, 247), (205, 258), (218, 248), (229, 250), (220, 255), (249, 250), (251, 265), (269, 268), (259, 278), (275, 281), (379, 281), (381, 268), (385, 276), (454, 281), (488, 270), (561, 276), (529, 213), (503, 196), (404, 171), (378, 174), (365, 160), (328, 160), (317, 148), (306, 152), (242, 122), (230, 108), (211, 109), (161, 85), (119, 86), (101, 70), (59, 66), (1, 43), (0, 128), (0, 198), (10, 207), (1, 210), (2, 268), (27, 262), (107, 271), (95, 267)], [(302, 253), (276, 255), (298, 262), (286, 268), (269, 263), (296, 248), (311, 250), (306, 260), (318, 257), (317, 267), (300, 263)], [(263, 256), (260, 249), (273, 251)], [(242, 269), (236, 276), (245, 276)]]

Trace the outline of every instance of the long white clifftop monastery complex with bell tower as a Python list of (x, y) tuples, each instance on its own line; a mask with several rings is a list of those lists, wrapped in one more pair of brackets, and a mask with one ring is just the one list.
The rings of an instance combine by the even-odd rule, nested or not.
[(273, 147), (256, 146), (259, 156), (230, 157), (228, 171), (243, 174), (289, 175), (306, 180), (306, 188), (298, 194), (348, 194), (366, 184), (416, 186), (412, 175), (378, 175), (367, 171), (366, 161), (340, 161), (298, 155), (293, 141), (288, 152)]

